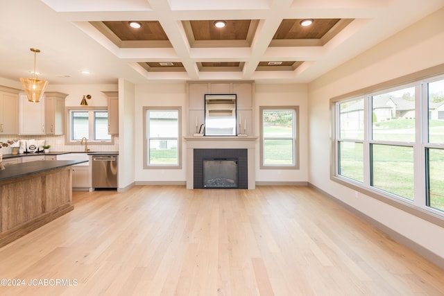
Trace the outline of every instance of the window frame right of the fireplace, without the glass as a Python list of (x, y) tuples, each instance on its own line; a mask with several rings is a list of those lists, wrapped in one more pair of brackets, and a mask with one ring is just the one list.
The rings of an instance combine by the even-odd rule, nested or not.
[[(264, 144), (265, 139), (290, 139), (290, 138), (279, 138), (279, 137), (265, 137), (264, 138), (264, 127), (263, 124), (263, 114), (266, 110), (279, 110), (287, 111), (291, 110), (295, 114), (295, 119), (293, 120), (293, 164), (282, 165), (282, 164), (264, 164)], [(263, 170), (298, 170), (300, 167), (299, 161), (299, 106), (259, 106), (259, 159), (260, 168)]]

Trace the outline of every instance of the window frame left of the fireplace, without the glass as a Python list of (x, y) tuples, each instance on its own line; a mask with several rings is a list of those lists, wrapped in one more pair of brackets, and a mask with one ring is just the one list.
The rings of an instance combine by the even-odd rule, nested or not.
[[(160, 139), (158, 137), (149, 137), (149, 130), (146, 128), (147, 111), (177, 111), (178, 112), (178, 164), (162, 165), (162, 164), (148, 164), (148, 151), (149, 151), (149, 139)], [(142, 119), (143, 119), (143, 154), (144, 154), (144, 169), (181, 169), (182, 168), (182, 107), (180, 106), (144, 106), (142, 107)]]

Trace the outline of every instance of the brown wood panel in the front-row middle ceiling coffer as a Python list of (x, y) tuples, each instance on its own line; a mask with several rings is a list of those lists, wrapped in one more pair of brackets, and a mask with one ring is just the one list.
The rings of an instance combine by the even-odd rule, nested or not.
[(216, 28), (214, 21), (189, 21), (194, 40), (246, 40), (250, 19), (226, 21), (224, 28)]

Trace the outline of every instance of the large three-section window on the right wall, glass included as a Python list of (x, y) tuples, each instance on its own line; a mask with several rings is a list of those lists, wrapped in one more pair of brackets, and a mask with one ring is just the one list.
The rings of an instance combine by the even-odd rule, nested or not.
[(332, 179), (444, 217), (444, 78), (388, 87), (332, 100)]

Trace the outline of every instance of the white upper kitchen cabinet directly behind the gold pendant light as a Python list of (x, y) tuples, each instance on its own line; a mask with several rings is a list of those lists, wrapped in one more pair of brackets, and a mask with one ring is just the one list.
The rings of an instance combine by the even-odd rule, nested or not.
[(45, 134), (45, 98), (39, 103), (28, 101), (26, 94), (19, 94), (19, 134)]

